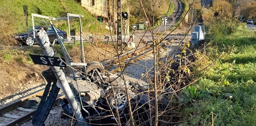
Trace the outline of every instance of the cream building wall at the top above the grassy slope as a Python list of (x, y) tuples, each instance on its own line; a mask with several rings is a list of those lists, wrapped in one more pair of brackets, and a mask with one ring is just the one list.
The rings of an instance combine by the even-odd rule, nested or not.
[(106, 0), (81, 0), (81, 6), (96, 16), (107, 17)]

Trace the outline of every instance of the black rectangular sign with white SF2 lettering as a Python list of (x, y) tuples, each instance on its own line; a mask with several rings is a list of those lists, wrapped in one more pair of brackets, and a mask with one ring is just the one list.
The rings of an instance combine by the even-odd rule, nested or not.
[(41, 56), (41, 55), (32, 55), (29, 54), (31, 59), (35, 64), (47, 65), (47, 66), (57, 66), (57, 67), (66, 67), (65, 59), (59, 57), (51, 56)]

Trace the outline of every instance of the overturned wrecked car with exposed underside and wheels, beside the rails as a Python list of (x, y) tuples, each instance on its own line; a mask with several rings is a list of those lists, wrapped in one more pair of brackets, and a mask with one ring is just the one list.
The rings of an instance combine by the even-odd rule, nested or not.
[[(126, 83), (124, 83), (126, 80)], [(111, 82), (111, 83), (110, 83)], [(108, 76), (102, 75), (102, 80), (97, 81), (77, 80), (71, 82), (71, 89), (75, 92), (77, 99), (81, 100), (81, 111), (91, 124), (116, 124), (117, 117), (121, 124), (127, 125), (129, 120), (128, 95), (130, 98), (131, 109), (137, 111), (148, 109), (146, 95), (136, 93), (144, 91), (147, 87), (143, 81), (136, 82), (136, 79), (118, 77), (117, 74), (109, 73)], [(128, 94), (126, 93), (128, 89)], [(73, 112), (68, 107), (67, 100), (60, 101), (64, 111), (72, 116)], [(146, 104), (145, 104), (146, 103)], [(117, 114), (118, 112), (118, 114)], [(143, 113), (143, 112), (140, 112)], [(119, 115), (119, 116), (118, 116)], [(141, 122), (146, 122), (148, 113), (141, 114)], [(117, 124), (116, 124), (117, 125)]]

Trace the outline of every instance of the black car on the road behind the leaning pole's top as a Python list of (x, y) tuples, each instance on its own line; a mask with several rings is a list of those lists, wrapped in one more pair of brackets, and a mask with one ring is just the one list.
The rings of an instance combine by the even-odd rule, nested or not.
[[(49, 37), (49, 41), (53, 42), (54, 39), (56, 39), (54, 30), (51, 26), (35, 26), (35, 29), (39, 30), (39, 29), (44, 29)], [(67, 33), (64, 31), (61, 31), (59, 29), (57, 29), (57, 32), (60, 36), (61, 39), (66, 39), (67, 38)], [(15, 36), (15, 39), (18, 40), (20, 43), (25, 43), (26, 45), (33, 45), (35, 43), (37, 43), (36, 39), (33, 39), (34, 35), (33, 35), (33, 29), (31, 28), (30, 30), (28, 30), (28, 32), (26, 33), (19, 33)]]

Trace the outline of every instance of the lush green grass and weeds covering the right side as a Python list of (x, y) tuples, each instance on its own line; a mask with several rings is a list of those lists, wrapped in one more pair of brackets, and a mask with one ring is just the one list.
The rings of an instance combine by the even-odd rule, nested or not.
[(183, 112), (187, 112), (182, 116), (189, 121), (180, 126), (256, 124), (256, 35), (239, 23), (227, 33), (223, 29), (229, 29), (228, 23), (235, 22), (209, 27), (209, 62), (222, 56), (202, 79), (182, 91)]

